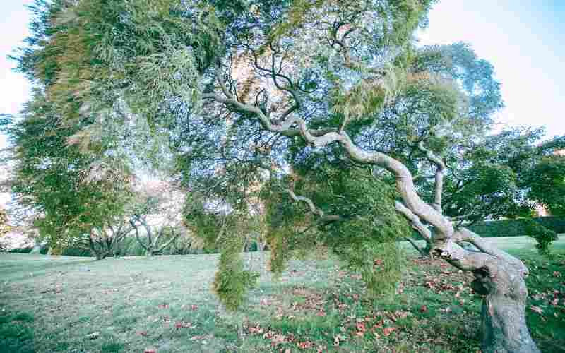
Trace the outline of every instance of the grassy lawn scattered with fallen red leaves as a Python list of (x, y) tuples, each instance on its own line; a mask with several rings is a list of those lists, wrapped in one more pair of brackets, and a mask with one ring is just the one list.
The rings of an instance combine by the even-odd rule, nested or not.
[[(525, 237), (492, 239), (525, 261), (528, 325), (565, 352), (565, 237), (551, 258)], [(279, 280), (248, 253), (258, 286), (238, 313), (210, 292), (218, 256), (90, 258), (0, 253), (0, 352), (479, 352), (472, 276), (407, 248), (398, 294), (369, 299), (323, 253)]]

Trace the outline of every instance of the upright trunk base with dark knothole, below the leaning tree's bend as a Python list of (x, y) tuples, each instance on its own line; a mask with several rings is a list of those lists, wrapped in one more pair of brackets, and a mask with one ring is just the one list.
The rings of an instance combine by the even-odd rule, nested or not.
[(482, 352), (540, 352), (525, 321), (528, 289), (521, 273), (501, 260), (489, 268), (496, 273), (477, 270), (472, 283), (475, 292), (486, 294), (482, 301)]

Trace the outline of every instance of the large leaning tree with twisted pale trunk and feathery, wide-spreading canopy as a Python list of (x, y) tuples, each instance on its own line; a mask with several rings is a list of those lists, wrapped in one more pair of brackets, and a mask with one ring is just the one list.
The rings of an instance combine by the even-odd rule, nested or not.
[[(175, 155), (204, 206), (187, 222), (212, 220), (211, 204), (247, 215), (265, 184), (273, 270), (315, 229), (371, 285), (379, 276), (356, 250), (390, 254), (411, 225), (433, 256), (475, 275), (483, 352), (539, 352), (525, 323), (528, 269), (444, 211), (446, 157), (480, 140), (502, 103), (492, 66), (468, 46), (413, 43), (433, 3), (38, 1), (20, 69), (48, 88), (77, 143), (100, 151), (93, 137), (115, 144), (124, 128), (107, 126), (133, 125)], [(429, 172), (427, 195), (417, 177)], [(227, 238), (215, 282), (232, 308), (244, 290), (227, 274), (254, 282), (238, 261), (242, 235)], [(395, 280), (398, 264), (383, 264)]]

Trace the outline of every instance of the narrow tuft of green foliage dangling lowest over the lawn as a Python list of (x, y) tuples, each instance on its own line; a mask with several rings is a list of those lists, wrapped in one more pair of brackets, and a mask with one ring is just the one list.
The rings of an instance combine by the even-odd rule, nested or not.
[(222, 244), (218, 270), (215, 273), (213, 290), (225, 305), (234, 311), (244, 303), (248, 289), (255, 285), (259, 274), (244, 270), (242, 251), (244, 242), (237, 236), (227, 236)]

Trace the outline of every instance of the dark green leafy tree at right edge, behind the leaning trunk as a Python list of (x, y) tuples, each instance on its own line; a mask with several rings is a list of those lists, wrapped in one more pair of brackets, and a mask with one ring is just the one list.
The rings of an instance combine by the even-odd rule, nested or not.
[[(540, 207), (559, 215), (565, 196), (559, 169), (565, 158), (555, 155), (562, 138), (542, 137), (542, 130), (506, 129), (454, 151), (463, 157), (447, 157), (451, 168), (445, 179), (444, 214), (459, 225), (521, 218), (540, 252), (548, 252), (557, 236), (531, 218)], [(432, 193), (433, 183), (422, 178), (419, 184), (424, 193)]]

